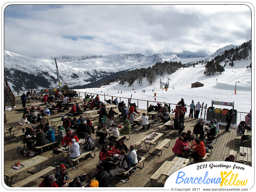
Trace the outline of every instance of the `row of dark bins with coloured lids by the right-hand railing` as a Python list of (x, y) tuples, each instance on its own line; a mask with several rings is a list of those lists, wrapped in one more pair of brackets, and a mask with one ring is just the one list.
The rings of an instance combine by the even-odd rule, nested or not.
[[(212, 121), (216, 119), (217, 122), (227, 123), (226, 117), (229, 109), (219, 109), (215, 107), (209, 107), (206, 113), (206, 120)], [(232, 118), (231, 124), (237, 124), (237, 110), (234, 110), (235, 115)]]

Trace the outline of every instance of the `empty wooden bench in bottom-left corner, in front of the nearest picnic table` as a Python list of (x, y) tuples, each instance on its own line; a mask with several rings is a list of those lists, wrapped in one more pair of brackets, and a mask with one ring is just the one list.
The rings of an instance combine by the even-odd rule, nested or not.
[(44, 174), (47, 174), (49, 172), (55, 170), (55, 167), (53, 166), (48, 166), (45, 169), (43, 169), (42, 171), (37, 172), (36, 174), (32, 174), (29, 177), (26, 177), (25, 179), (19, 181), (18, 183), (14, 183), (13, 185), (11, 185), (12, 187), (23, 187), (24, 185), (26, 185), (27, 183), (33, 182), (35, 181), (35, 179), (37, 179), (38, 177), (43, 176)]

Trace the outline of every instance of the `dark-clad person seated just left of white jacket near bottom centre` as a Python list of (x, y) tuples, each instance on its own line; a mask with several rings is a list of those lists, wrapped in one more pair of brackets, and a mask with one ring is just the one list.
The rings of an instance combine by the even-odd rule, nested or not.
[(119, 171), (128, 171), (131, 167), (130, 159), (128, 157), (128, 154), (124, 150), (121, 151), (121, 161), (120, 166), (115, 169), (111, 169), (109, 173), (109, 177), (114, 177), (116, 174), (119, 173)]

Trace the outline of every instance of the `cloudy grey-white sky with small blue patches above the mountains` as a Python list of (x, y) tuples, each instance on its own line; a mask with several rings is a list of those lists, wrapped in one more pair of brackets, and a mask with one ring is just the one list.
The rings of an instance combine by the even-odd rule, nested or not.
[(251, 40), (248, 5), (14, 5), (4, 49), (30, 57), (214, 53)]

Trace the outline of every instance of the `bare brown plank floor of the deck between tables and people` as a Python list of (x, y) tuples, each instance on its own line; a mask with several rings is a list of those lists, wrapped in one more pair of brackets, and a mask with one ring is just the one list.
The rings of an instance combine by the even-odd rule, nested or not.
[[(6, 111), (6, 117), (8, 121), (5, 124), (5, 128), (18, 125), (18, 120), (22, 117), (23, 110), (21, 109), (21, 102), (19, 102), (18, 99), (17, 99), (16, 105), (17, 105), (17, 108), (13, 109), (12, 111)], [(141, 110), (141, 109), (139, 110), (140, 110), (140, 114), (142, 114), (143, 112), (146, 112), (146, 110)], [(58, 115), (59, 113), (55, 115), (51, 115), (50, 119), (57, 118)], [(188, 113), (186, 113), (185, 120), (184, 120), (184, 124), (185, 124), (184, 131), (187, 131), (187, 130), (192, 131), (197, 119), (191, 119), (187, 115)], [(77, 119), (78, 118), (79, 116), (77, 116)], [(173, 114), (171, 114), (171, 119), (172, 118), (174, 118)], [(118, 120), (119, 120), (118, 117), (114, 118), (114, 122), (118, 122)], [(98, 119), (95, 119), (93, 124), (97, 126), (99, 124)], [(158, 131), (157, 127), (159, 125), (161, 124), (153, 123), (153, 127), (150, 127), (149, 131), (133, 131), (130, 134), (130, 139), (125, 140), (125, 144), (127, 146), (133, 145), (137, 143), (139, 139), (145, 137), (146, 135), (149, 135), (150, 133), (153, 133), (153, 132), (157, 132)], [(236, 128), (230, 128), (230, 133), (227, 133), (225, 132), (225, 127), (220, 126), (219, 132), (220, 132), (220, 135), (218, 138), (218, 142), (216, 144), (212, 144), (214, 149), (212, 149), (212, 155), (207, 158), (207, 161), (223, 161), (227, 156), (229, 156), (230, 150), (238, 151), (238, 154), (239, 154), (239, 146), (236, 145), (235, 143), (236, 137), (237, 137)], [(96, 140), (96, 134), (92, 136)], [(172, 152), (172, 147), (174, 146), (175, 141), (178, 137), (177, 136), (165, 137), (164, 135), (160, 138), (159, 142), (161, 142), (165, 138), (170, 139), (170, 147), (164, 148), (163, 154), (161, 156), (137, 152), (138, 155), (143, 155), (146, 158), (144, 161), (145, 167), (143, 169), (137, 169), (135, 173), (129, 177), (129, 181), (127, 183), (120, 182), (119, 181), (120, 179), (118, 180), (110, 179), (109, 180), (110, 187), (153, 187), (150, 177), (156, 172), (156, 170), (165, 161), (172, 161), (174, 159), (174, 153)], [(22, 138), (20, 140), (22, 141)], [(13, 141), (10, 141), (9, 139), (4, 139), (4, 167), (6, 169), (9, 168), (11, 165), (14, 165), (14, 163), (17, 161), (20, 161), (20, 163), (22, 163), (22, 161), (31, 158), (31, 157), (24, 156), (21, 154), (21, 152), (17, 151), (18, 146), (23, 146), (23, 144), (21, 144), (21, 141), (13, 142)], [(102, 145), (98, 144), (98, 142), (96, 141), (96, 147), (98, 149), (96, 150), (95, 158), (92, 158), (92, 159), (89, 158), (86, 161), (81, 160), (80, 165), (77, 169), (72, 169), (68, 167), (67, 171), (68, 171), (70, 180), (82, 174), (94, 172), (95, 164), (97, 164), (99, 161), (98, 156), (99, 156)], [(138, 148), (145, 149), (145, 145), (138, 146)], [(154, 147), (153, 147), (151, 149), (151, 152), (157, 153), (157, 150), (154, 151)], [(44, 163), (42, 169), (50, 165), (56, 166), (51, 153), (52, 153), (52, 150), (47, 150), (45, 153), (42, 154), (42, 156), (48, 158), (48, 160)], [(62, 162), (63, 160), (61, 159), (61, 157), (62, 155), (58, 155), (55, 157), (55, 160), (58, 162)], [(26, 169), (24, 171), (26, 171)], [(35, 171), (35, 170), (31, 169), (29, 171)], [(55, 173), (56, 172), (53, 171), (53, 174)], [(16, 182), (19, 182), (30, 175), (31, 174), (24, 172), (19, 175)], [(38, 187), (42, 180), (43, 178), (35, 179), (33, 182), (26, 184), (24, 187)], [(156, 187), (163, 187), (165, 180), (166, 180), (165, 177), (161, 177), (160, 180), (158, 180)]]

